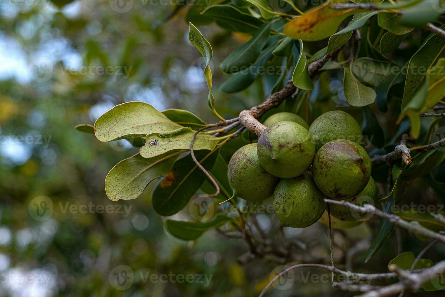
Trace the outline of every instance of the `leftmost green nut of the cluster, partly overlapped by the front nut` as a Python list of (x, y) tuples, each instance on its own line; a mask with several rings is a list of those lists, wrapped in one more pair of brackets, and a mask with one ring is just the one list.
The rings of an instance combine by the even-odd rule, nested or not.
[(256, 146), (256, 143), (251, 143), (241, 147), (233, 154), (227, 169), (233, 195), (247, 201), (262, 201), (271, 197), (279, 181), (259, 163)]

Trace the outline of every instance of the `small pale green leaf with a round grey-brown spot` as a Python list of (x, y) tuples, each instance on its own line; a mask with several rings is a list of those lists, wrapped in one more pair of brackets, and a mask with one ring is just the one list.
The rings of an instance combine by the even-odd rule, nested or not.
[[(190, 143), (194, 133), (190, 127), (187, 127), (172, 136), (158, 133), (149, 134), (145, 138), (145, 146), (142, 146), (139, 152), (144, 158), (153, 158), (168, 151), (190, 150)], [(213, 151), (218, 144), (218, 140), (219, 138), (209, 134), (198, 134), (193, 143), (193, 150)]]

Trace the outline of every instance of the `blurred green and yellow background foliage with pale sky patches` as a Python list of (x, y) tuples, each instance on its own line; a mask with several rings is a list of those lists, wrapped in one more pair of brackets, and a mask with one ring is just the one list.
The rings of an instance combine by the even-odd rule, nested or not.
[[(174, 239), (164, 228), (164, 218), (150, 206), (155, 182), (135, 200), (114, 203), (105, 195), (103, 181), (108, 171), (137, 153), (138, 148), (126, 141), (101, 143), (93, 135), (75, 130), (77, 124), (93, 124), (114, 105), (134, 100), (150, 103), (158, 110), (181, 108), (206, 122), (218, 121), (206, 103), (202, 58), (187, 40), (186, 11), (179, 11), (178, 16), (161, 24), (174, 12), (174, 3), (144, 5), (134, 1), (129, 12), (118, 13), (111, 9), (111, 2), (1, 2), (0, 296), (256, 296), (279, 265), (268, 260), (239, 265), (237, 257), (247, 250), (243, 240), (227, 238), (214, 230), (194, 244)], [(272, 87), (266, 76), (241, 93), (218, 91), (224, 80), (217, 65), (249, 37), (228, 33), (214, 24), (200, 30), (214, 49), (213, 92), (218, 112), (231, 118), (263, 101)], [(414, 43), (416, 34), (409, 37)], [(52, 65), (48, 80), (32, 74), (32, 61), (36, 59), (46, 59), (49, 67)], [(79, 73), (82, 66), (93, 72)], [(111, 66), (113, 73), (97, 73), (100, 66)], [(321, 77), (320, 81), (310, 99), (315, 110), (308, 113), (302, 109), (303, 116), (311, 117), (307, 118), (309, 123), (323, 111), (344, 106), (344, 98), (337, 94), (341, 77)], [(344, 110), (361, 118), (355, 109)], [(385, 125), (385, 118), (381, 114), (379, 118)], [(396, 130), (385, 126), (387, 135)], [(235, 151), (247, 140), (240, 138), (231, 143), (227, 147)], [(432, 190), (427, 191), (435, 197)], [(42, 195), (50, 198), (53, 213), (39, 221), (33, 219), (28, 206)], [(116, 211), (79, 211), (78, 207), (91, 203), (112, 205)], [(123, 207), (117, 211), (116, 205)], [(70, 211), (71, 206), (74, 211)], [(190, 213), (184, 211), (174, 216), (188, 217)], [(259, 214), (257, 219), (275, 240), (300, 239), (307, 245), (303, 254), (319, 259), (329, 255), (324, 225), (282, 229), (275, 215)], [(354, 245), (353, 240), (367, 238), (377, 224), (370, 222), (339, 231), (339, 255), (344, 257)], [(412, 236), (404, 231), (393, 237), (376, 256), (379, 260), (361, 270), (383, 272), (379, 264), (394, 258), (397, 246), (404, 246), (404, 250), (409, 247), (415, 254), (422, 248), (420, 241), (410, 241)], [(437, 253), (445, 256), (439, 247), (427, 256), (437, 257)], [(355, 257), (354, 262), (362, 265), (365, 255)], [(114, 289), (108, 280), (110, 271), (122, 264), (129, 265), (135, 273), (134, 284), (124, 291)], [(138, 272), (205, 273), (212, 279), (208, 286), (147, 283)], [(304, 276), (307, 272), (321, 273), (303, 270)], [(8, 275), (28, 274), (47, 277), (48, 281), (5, 281)], [(295, 284), (287, 290), (276, 290), (274, 296), (345, 294), (332, 293), (328, 281), (308, 284), (311, 281), (304, 282), (302, 275), (295, 273)]]

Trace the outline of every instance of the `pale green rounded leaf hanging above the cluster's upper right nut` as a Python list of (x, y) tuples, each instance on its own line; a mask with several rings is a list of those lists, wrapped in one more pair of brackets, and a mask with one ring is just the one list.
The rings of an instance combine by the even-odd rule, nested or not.
[(376, 100), (376, 92), (357, 81), (350, 67), (344, 67), (344, 97), (352, 106), (367, 106)]

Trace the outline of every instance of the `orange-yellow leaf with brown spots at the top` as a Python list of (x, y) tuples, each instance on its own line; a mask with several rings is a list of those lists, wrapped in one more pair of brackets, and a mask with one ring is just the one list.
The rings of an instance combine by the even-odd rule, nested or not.
[[(332, 9), (335, 4), (345, 4), (347, 0), (330, 0), (322, 5), (310, 9), (304, 15), (299, 16), (283, 29), (283, 33), (293, 39), (302, 41), (319, 41), (336, 33), (337, 28), (348, 16), (360, 12), (355, 8)], [(352, 31), (353, 29), (348, 31)], [(343, 30), (342, 30), (343, 31)], [(346, 33), (342, 32), (340, 34)]]

